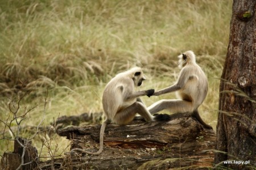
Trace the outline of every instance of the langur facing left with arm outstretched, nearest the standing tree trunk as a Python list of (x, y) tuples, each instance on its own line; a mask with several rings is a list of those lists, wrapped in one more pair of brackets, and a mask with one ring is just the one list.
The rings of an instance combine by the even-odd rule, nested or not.
[(187, 51), (179, 57), (179, 67), (181, 69), (177, 82), (167, 88), (156, 91), (154, 96), (176, 92), (179, 99), (163, 99), (148, 107), (151, 114), (168, 109), (174, 113), (191, 113), (191, 116), (208, 129), (211, 126), (205, 124), (201, 119), (197, 108), (203, 103), (208, 90), (208, 80), (204, 71), (196, 63), (196, 56), (192, 51)]

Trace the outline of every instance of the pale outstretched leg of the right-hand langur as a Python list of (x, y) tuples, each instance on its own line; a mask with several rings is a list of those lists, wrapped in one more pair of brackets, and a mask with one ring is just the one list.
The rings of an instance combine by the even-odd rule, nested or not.
[(191, 101), (179, 100), (179, 99), (163, 99), (157, 101), (147, 108), (151, 114), (157, 113), (164, 109), (170, 110), (172, 113), (184, 113), (184, 112), (193, 112), (193, 105)]

